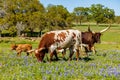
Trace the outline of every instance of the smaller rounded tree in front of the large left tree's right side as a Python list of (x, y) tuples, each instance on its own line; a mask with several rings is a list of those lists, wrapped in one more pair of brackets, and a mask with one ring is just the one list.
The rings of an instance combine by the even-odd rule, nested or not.
[(41, 12), (34, 12), (30, 16), (28, 16), (28, 29), (31, 31), (31, 34), (33, 30), (37, 29), (37, 31), (41, 32), (47, 27), (47, 21), (45, 14)]

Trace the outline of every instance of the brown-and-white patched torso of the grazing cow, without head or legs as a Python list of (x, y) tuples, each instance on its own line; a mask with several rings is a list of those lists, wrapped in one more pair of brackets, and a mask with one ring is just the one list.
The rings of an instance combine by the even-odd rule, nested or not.
[(58, 30), (45, 33), (40, 40), (39, 48), (57, 47), (67, 48), (74, 44), (76, 30)]

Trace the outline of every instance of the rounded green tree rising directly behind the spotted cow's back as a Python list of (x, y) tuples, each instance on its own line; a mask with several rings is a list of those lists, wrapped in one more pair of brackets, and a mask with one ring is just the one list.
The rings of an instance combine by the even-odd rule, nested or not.
[(50, 28), (65, 28), (70, 26), (71, 14), (62, 5), (48, 5), (47, 21)]

